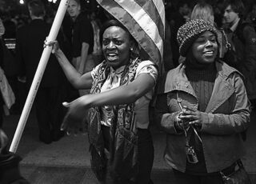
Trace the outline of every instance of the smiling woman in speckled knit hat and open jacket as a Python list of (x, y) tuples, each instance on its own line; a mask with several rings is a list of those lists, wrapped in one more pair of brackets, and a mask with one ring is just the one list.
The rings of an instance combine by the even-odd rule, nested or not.
[(245, 154), (250, 121), (242, 76), (218, 59), (215, 27), (191, 20), (178, 30), (186, 61), (161, 80), (156, 121), (167, 133), (165, 159), (177, 183), (221, 184)]

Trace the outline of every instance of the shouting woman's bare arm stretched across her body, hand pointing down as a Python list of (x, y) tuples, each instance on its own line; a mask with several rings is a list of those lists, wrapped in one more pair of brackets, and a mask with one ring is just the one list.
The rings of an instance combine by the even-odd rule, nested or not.
[(76, 132), (85, 118), (86, 109), (91, 106), (119, 105), (133, 103), (154, 87), (155, 81), (150, 74), (139, 74), (133, 82), (100, 94), (84, 95), (73, 102), (64, 103), (68, 108), (62, 123), (62, 130)]

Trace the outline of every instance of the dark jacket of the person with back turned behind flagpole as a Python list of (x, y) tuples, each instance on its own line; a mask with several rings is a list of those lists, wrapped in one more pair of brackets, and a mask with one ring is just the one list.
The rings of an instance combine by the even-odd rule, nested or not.
[[(35, 71), (38, 68), (44, 41), (50, 33), (50, 25), (41, 19), (34, 19), (28, 25), (22, 26), (17, 31), (16, 59), (18, 62), (19, 76), (26, 76), (26, 82), (30, 86)], [(62, 82), (63, 73), (53, 54), (47, 63), (40, 86), (58, 86)]]

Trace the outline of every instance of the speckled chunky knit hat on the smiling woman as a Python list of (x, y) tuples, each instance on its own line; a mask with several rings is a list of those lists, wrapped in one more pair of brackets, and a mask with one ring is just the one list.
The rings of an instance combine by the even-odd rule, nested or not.
[(206, 30), (213, 32), (217, 38), (217, 30), (210, 22), (196, 19), (186, 22), (183, 26), (178, 29), (177, 41), (179, 45), (179, 53), (182, 56), (186, 56), (187, 50), (195, 39), (200, 36)]

